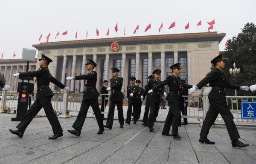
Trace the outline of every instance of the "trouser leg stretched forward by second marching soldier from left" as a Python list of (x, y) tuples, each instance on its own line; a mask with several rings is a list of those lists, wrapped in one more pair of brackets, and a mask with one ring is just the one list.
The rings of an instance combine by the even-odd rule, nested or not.
[(88, 100), (82, 101), (76, 121), (74, 122), (74, 124), (72, 126), (74, 129), (78, 130), (79, 132), (81, 132), (81, 130), (82, 130), (89, 107), (90, 107), (90, 103)]

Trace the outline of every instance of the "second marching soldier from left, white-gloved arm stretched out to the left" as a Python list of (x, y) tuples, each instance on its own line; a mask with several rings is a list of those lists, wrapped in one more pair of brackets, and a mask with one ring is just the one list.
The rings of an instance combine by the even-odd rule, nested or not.
[(68, 132), (76, 136), (80, 136), (81, 134), (81, 130), (90, 106), (93, 109), (93, 113), (95, 114), (97, 123), (99, 125), (99, 131), (97, 132), (97, 134), (102, 134), (104, 132), (103, 120), (98, 102), (99, 92), (96, 89), (97, 73), (96, 71), (93, 71), (97, 64), (93, 60), (88, 59), (85, 65), (88, 71), (87, 75), (67, 77), (67, 80), (84, 80), (83, 101), (76, 121), (72, 126), (75, 130), (67, 130)]

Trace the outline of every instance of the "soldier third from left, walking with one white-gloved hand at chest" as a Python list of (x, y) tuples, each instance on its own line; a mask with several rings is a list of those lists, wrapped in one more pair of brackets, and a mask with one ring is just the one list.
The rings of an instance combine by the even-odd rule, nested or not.
[(119, 69), (111, 68), (111, 70), (113, 78), (110, 79), (111, 86), (107, 88), (108, 91), (111, 90), (111, 95), (109, 98), (107, 125), (104, 125), (104, 127), (112, 129), (115, 106), (117, 106), (120, 128), (124, 128), (124, 115), (122, 109), (124, 95), (121, 92), (123, 78), (118, 77), (118, 72), (120, 71)]

